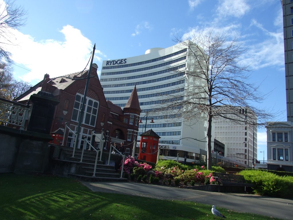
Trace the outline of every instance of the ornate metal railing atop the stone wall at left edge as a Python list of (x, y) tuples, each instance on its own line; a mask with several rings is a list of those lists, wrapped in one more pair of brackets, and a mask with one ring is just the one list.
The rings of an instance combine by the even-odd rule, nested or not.
[(0, 123), (24, 130), (29, 110), (28, 105), (0, 98)]

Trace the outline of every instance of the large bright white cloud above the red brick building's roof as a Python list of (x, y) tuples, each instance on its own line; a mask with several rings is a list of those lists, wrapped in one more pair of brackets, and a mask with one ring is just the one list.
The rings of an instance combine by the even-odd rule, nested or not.
[[(79, 72), (84, 69), (90, 59), (93, 45), (82, 35), (79, 29), (70, 25), (60, 31), (64, 35), (63, 41), (46, 39), (36, 41), (30, 35), (24, 35), (13, 29), (11, 33), (16, 45), (8, 45), (11, 59), (18, 65), (25, 66), (30, 72), (22, 76), (27, 82), (40, 81), (47, 73), (50, 78)], [(95, 51), (94, 60), (105, 57), (100, 51)], [(88, 68), (88, 67), (87, 67)]]

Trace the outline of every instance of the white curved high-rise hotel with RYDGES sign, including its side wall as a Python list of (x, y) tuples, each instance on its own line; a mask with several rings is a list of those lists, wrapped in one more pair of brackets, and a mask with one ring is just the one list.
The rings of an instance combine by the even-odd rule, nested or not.
[[(180, 160), (184, 156), (200, 160), (206, 155), (203, 153), (206, 143), (197, 141), (206, 137), (204, 122), (191, 123), (193, 125), (190, 126), (180, 118), (180, 114), (176, 114), (176, 109), (173, 112), (158, 111), (164, 102), (172, 101), (172, 95), (184, 94), (188, 84), (197, 83), (188, 82), (184, 75), (190, 60), (188, 48), (177, 44), (168, 48), (152, 48), (140, 56), (104, 60), (102, 65), (100, 82), (106, 100), (124, 107), (136, 85), (142, 112), (134, 117), (137, 123), (139, 119), (143, 122), (139, 124), (137, 141), (140, 141), (139, 134), (152, 129), (161, 137), (161, 150), (170, 159), (182, 151), (185, 155), (179, 153)], [(151, 119), (154, 123), (150, 123)]]

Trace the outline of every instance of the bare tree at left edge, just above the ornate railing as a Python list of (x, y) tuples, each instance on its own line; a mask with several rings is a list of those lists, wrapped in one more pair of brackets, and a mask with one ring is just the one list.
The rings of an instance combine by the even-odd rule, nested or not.
[(0, 97), (14, 100), (19, 95), (30, 89), (30, 84), (23, 80), (13, 78), (12, 68), (0, 63)]

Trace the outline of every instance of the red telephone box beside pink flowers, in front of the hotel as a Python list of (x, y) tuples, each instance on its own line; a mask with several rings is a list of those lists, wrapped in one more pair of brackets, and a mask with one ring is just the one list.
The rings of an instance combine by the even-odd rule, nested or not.
[(156, 163), (159, 149), (159, 138), (161, 137), (151, 129), (142, 133), (140, 137), (138, 159)]

